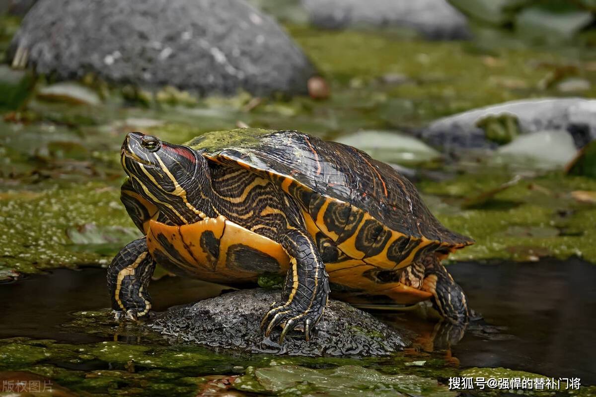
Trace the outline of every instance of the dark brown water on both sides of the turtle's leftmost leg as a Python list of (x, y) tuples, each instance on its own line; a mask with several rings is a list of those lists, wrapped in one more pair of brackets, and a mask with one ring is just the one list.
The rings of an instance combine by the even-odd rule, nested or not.
[[(180, 277), (163, 277), (150, 286), (153, 308), (157, 311), (217, 296), (223, 289)], [(0, 306), (0, 338), (27, 336), (66, 342), (97, 341), (98, 337), (91, 335), (66, 333), (60, 324), (72, 321), (73, 312), (110, 307), (105, 269), (57, 269), (43, 276), (0, 285)]]

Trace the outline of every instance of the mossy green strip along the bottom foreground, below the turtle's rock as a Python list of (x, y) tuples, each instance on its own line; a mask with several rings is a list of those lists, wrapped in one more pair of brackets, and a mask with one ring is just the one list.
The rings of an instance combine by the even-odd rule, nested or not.
[[(100, 318), (97, 313), (84, 316), (100, 320), (99, 328), (114, 327), (114, 323), (110, 325), (101, 320), (103, 315), (99, 314)], [(276, 395), (454, 396), (454, 392), (436, 379), (446, 382), (455, 376), (543, 377), (505, 368), (460, 371), (448, 365), (440, 352), (410, 352), (360, 360), (214, 354), (200, 346), (158, 343), (159, 336), (153, 339), (143, 333), (129, 336), (132, 335), (136, 335), (134, 339), (140, 344), (105, 341), (74, 345), (54, 340), (0, 339), (0, 371), (30, 371), (79, 392), (147, 396), (193, 395), (197, 387), (217, 376), (238, 374), (238, 367), (246, 370), (232, 383), (232, 389)], [(420, 360), (424, 365), (408, 365)]]

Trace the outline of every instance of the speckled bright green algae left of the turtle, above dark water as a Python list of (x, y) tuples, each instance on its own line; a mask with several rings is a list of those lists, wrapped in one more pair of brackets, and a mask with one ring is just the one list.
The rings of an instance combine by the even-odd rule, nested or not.
[[(89, 224), (131, 230), (134, 225), (120, 204), (119, 195), (116, 186), (97, 182), (0, 193), (0, 226), (4, 230), (0, 236), (0, 270), (38, 273), (80, 264), (107, 265), (110, 257), (97, 254), (90, 245), (82, 243), (80, 233), (73, 241), (67, 231)], [(123, 238), (129, 240), (132, 230), (123, 233)], [(76, 242), (79, 244), (74, 245)], [(114, 246), (126, 242), (112, 240)], [(81, 249), (85, 246), (89, 249)]]

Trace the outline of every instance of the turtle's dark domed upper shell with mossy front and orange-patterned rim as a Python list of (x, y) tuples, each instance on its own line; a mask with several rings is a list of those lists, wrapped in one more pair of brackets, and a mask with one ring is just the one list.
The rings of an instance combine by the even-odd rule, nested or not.
[[(210, 161), (253, 171), (293, 196), (313, 238), (321, 245), (331, 240), (344, 261), (396, 270), (430, 252), (473, 243), (443, 226), (408, 179), (352, 146), (260, 129), (207, 133), (186, 145)], [(342, 262), (337, 253), (330, 255), (325, 262)]]

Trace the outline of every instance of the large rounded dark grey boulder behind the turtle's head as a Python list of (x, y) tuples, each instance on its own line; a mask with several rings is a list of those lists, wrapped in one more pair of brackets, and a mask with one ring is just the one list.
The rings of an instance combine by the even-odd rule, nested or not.
[(54, 0), (26, 15), (13, 64), (77, 79), (208, 93), (306, 93), (315, 71), (272, 18), (243, 0)]

